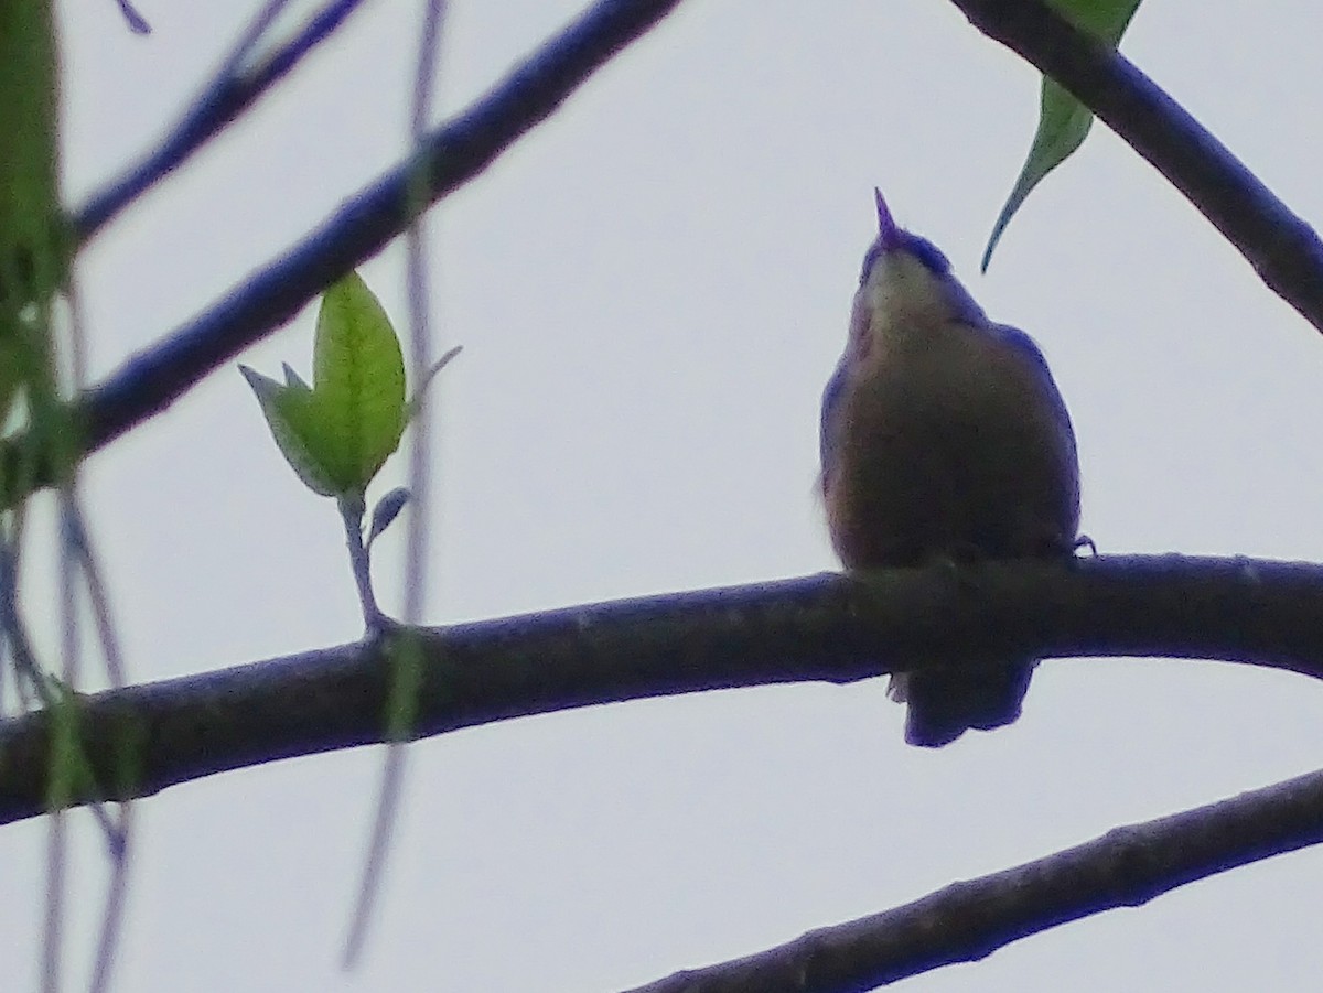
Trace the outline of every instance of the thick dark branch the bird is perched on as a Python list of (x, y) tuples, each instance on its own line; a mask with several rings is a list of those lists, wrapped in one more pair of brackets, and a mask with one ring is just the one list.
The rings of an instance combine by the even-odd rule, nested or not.
[[(1168, 656), (1323, 678), (1323, 567), (1097, 558), (823, 574), (422, 632), (417, 736), (528, 714), (777, 682), (851, 682), (923, 660)], [(380, 743), (382, 641), (82, 698), (79, 801)], [(44, 811), (49, 721), (0, 725), (0, 824)]]

